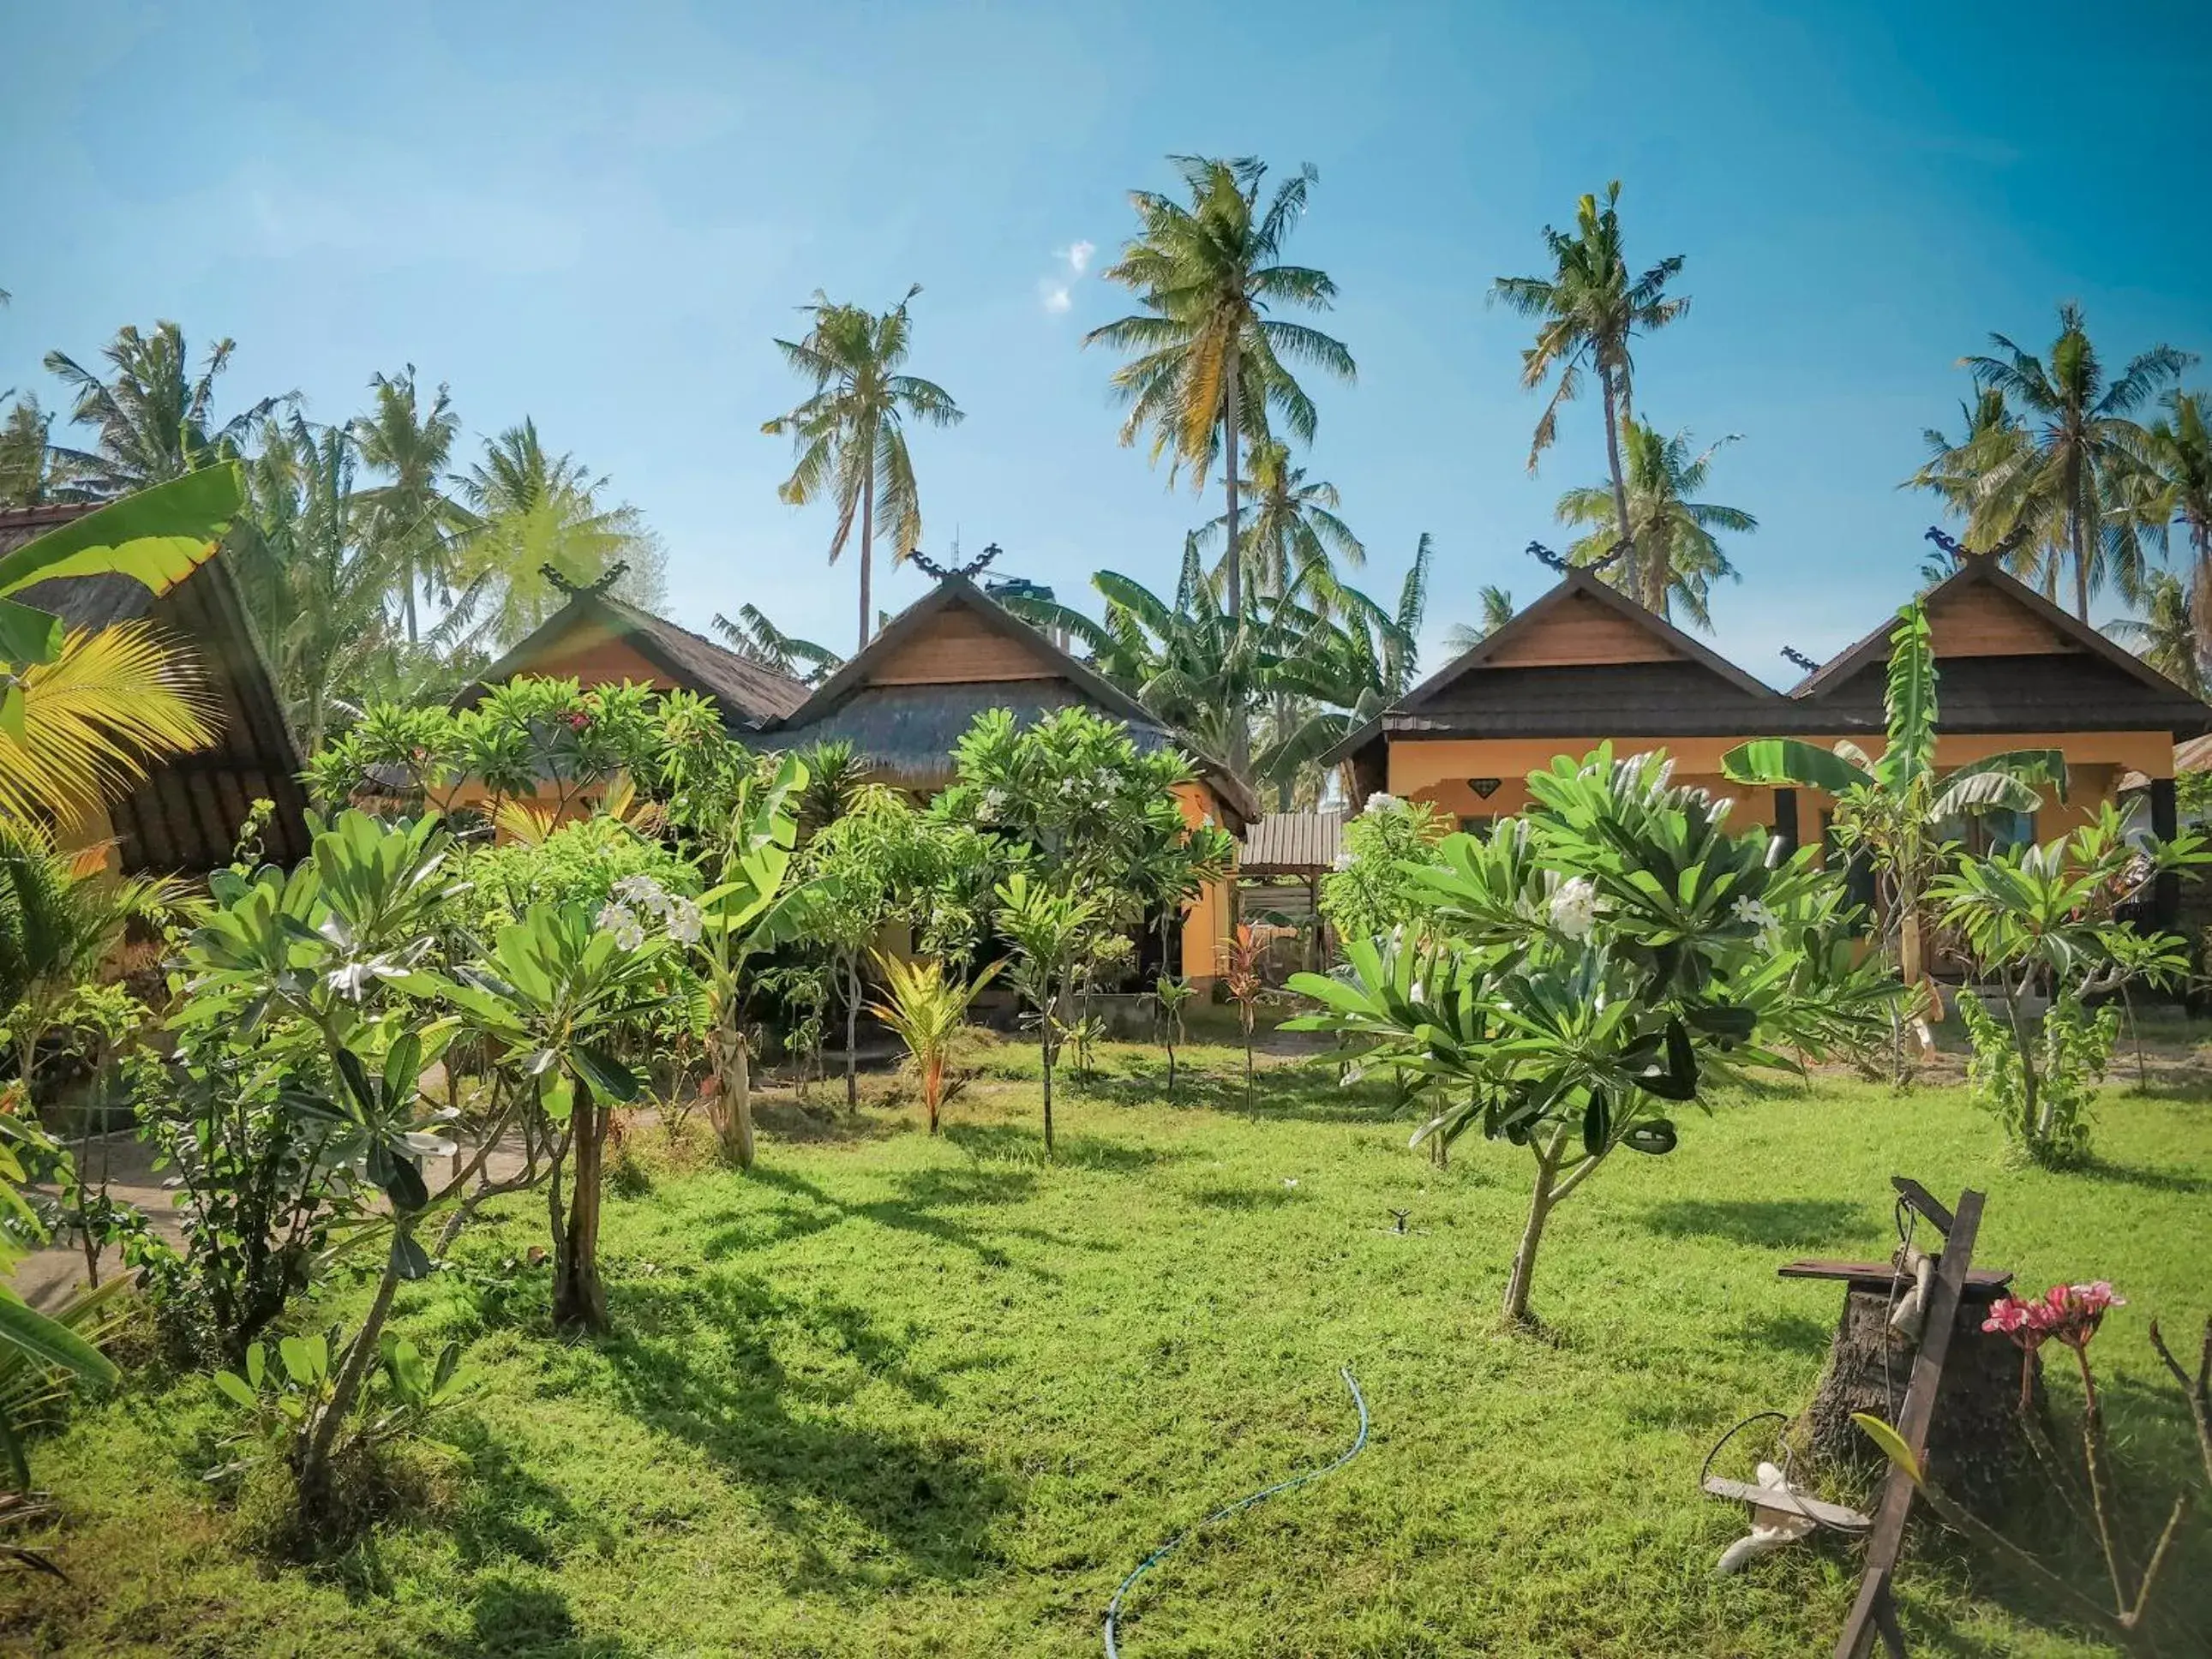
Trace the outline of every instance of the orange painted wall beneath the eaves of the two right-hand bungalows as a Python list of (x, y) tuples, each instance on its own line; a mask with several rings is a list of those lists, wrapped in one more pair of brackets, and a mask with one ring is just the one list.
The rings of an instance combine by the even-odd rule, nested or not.
[[(1721, 757), (1745, 739), (1739, 737), (1683, 737), (1683, 739), (1615, 739), (1615, 754), (1639, 754), (1644, 750), (1666, 750), (1674, 757), (1674, 781), (1710, 790), (1736, 803), (1734, 823), (1772, 825), (1774, 792), (1730, 783), (1721, 772)], [(1834, 739), (1812, 739), (1820, 748)], [(1387, 790), (1409, 801), (1429, 801), (1442, 812), (1462, 816), (1511, 816), (1528, 807), (1528, 772), (1551, 768), (1553, 757), (1584, 757), (1599, 739), (1391, 739)], [(2143, 776), (2166, 779), (2174, 774), (2174, 741), (2168, 732), (1944, 732), (1936, 741), (1938, 765), (1962, 765), (2004, 750), (2055, 748), (2064, 750), (2068, 765), (2066, 801), (2048, 799), (2035, 814), (2039, 841), (2062, 836), (2068, 830), (2097, 816), (2097, 810), (2115, 799), (2121, 772), (2135, 770)], [(1484, 801), (1473, 792), (1469, 779), (1500, 779), (1498, 790)], [(1829, 807), (1829, 796), (1820, 790), (1798, 790), (1798, 838), (1814, 841), (1820, 834), (1820, 812)]]

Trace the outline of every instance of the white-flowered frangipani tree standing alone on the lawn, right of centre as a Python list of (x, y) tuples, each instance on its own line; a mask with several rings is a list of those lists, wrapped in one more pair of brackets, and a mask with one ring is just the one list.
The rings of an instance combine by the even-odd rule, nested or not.
[(1854, 920), (1840, 880), (1763, 830), (1725, 834), (1728, 803), (1674, 787), (1666, 759), (1562, 757), (1528, 794), (1528, 816), (1413, 867), (1436, 896), (1425, 933), (1352, 940), (1340, 975), (1290, 980), (1323, 1004), (1292, 1026), (1442, 1084), (1416, 1146), (1473, 1128), (1528, 1148), (1513, 1323), (1551, 1212), (1615, 1150), (1672, 1150), (1668, 1106), (1714, 1071), (1792, 1066), (1781, 1048), (1820, 1053), (1878, 1006), (1878, 969), (1834, 949)]

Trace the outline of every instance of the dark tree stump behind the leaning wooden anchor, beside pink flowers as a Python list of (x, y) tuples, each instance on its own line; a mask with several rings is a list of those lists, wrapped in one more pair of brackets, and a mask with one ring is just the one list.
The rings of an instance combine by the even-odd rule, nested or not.
[[(1982, 1329), (2000, 1294), (2000, 1285), (1966, 1285), (1929, 1425), (1931, 1478), (1978, 1515), (2002, 1509), (2013, 1471), (2033, 1458), (2020, 1425), (2020, 1347), (2002, 1332)], [(1796, 1422), (1796, 1433), (1820, 1462), (1867, 1471), (1885, 1462), (1851, 1413), (1896, 1422), (1905, 1405), (1918, 1338), (1889, 1329), (1893, 1310), (1887, 1283), (1854, 1283), (1845, 1292), (1827, 1369)], [(2042, 1360), (2035, 1360), (2031, 1409), (2044, 1409)]]

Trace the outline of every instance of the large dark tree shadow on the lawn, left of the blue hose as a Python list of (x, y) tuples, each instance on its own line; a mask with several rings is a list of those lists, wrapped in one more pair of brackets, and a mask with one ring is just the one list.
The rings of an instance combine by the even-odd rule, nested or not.
[[(1009, 1482), (951, 1433), (909, 1436), (852, 1422), (854, 1387), (832, 1369), (787, 1371), (763, 1332), (801, 1323), (867, 1374), (936, 1402), (933, 1376), (867, 1310), (785, 1298), (761, 1281), (717, 1276), (626, 1285), (604, 1345), (619, 1409), (719, 1464), (792, 1540), (792, 1588), (876, 1590), (887, 1571), (964, 1579), (998, 1566), (984, 1546), (1013, 1502)], [(630, 1327), (653, 1336), (630, 1336)], [(865, 1528), (865, 1542), (854, 1528)], [(883, 1557), (896, 1557), (887, 1568)]]

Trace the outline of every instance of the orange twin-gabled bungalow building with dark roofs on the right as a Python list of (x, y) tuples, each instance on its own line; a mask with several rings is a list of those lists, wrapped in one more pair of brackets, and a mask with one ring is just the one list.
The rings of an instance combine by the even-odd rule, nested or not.
[[(2174, 832), (2174, 741), (2212, 732), (2212, 708), (1993, 560), (1966, 560), (1924, 604), (1940, 668), (1938, 763), (2015, 748), (2066, 754), (2066, 801), (1962, 825), (1969, 841), (2064, 834), (2115, 801), (2130, 772), (2148, 781), (2152, 832)], [(1354, 732), (1334, 759), (1352, 763), (1358, 799), (1385, 790), (1482, 830), (1522, 812), (1526, 774), (1557, 754), (1586, 754), (1601, 741), (1663, 748), (1679, 783), (1732, 796), (1739, 812), (1796, 845), (1825, 832), (1834, 803), (1730, 783), (1721, 757), (1754, 737), (1851, 739), (1880, 752), (1891, 626), (1885, 619), (1778, 692), (1588, 571), (1571, 571)], [(2159, 909), (2170, 916), (2172, 902), (2168, 885)]]

